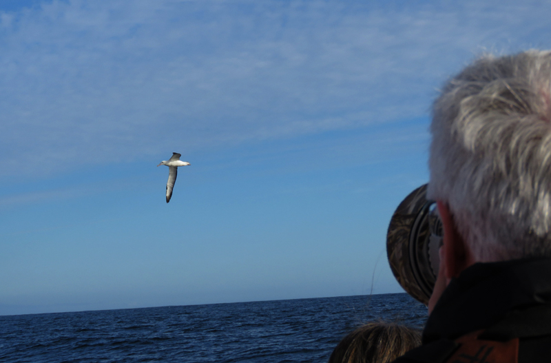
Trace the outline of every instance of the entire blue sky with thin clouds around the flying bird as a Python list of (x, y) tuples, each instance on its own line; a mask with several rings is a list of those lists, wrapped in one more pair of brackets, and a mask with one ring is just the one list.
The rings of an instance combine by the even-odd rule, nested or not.
[(438, 87), (551, 48), (550, 16), (0, 0), (0, 315), (401, 292), (386, 228), (428, 180)]

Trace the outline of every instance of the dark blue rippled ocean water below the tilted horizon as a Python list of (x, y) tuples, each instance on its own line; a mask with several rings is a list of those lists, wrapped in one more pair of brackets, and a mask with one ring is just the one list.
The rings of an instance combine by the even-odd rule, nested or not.
[(406, 293), (0, 316), (0, 362), (326, 362), (364, 322), (422, 328)]

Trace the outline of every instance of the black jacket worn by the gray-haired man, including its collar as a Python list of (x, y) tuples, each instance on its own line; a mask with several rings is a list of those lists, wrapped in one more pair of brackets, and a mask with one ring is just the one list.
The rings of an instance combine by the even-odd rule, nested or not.
[[(478, 338), (468, 339), (477, 340), (477, 353), (459, 354), (475, 331)], [(430, 314), (423, 345), (395, 363), (517, 362), (499, 358), (500, 349), (518, 351), (519, 363), (551, 362), (551, 258), (477, 263), (463, 271)]]

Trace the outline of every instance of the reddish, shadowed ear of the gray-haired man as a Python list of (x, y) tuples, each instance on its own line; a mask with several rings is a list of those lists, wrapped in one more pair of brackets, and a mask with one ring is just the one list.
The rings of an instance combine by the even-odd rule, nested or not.
[(475, 259), (472, 257), (469, 246), (457, 231), (448, 205), (441, 200), (437, 200), (436, 203), (444, 227), (444, 245), (441, 247), (443, 260), (440, 263), (444, 263), (444, 274), (449, 282), (451, 278), (457, 278), (461, 271), (474, 264)]

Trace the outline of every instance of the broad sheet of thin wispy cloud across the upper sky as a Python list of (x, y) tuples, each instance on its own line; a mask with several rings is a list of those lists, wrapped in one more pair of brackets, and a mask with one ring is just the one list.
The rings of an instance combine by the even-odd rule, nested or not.
[(424, 115), (481, 50), (551, 46), (550, 14), (544, 1), (54, 0), (0, 12), (0, 175), (22, 160), (44, 173)]

